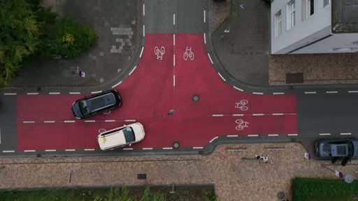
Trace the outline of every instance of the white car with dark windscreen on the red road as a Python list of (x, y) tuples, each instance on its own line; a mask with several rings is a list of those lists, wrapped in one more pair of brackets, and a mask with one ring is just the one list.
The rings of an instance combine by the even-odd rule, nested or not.
[(98, 135), (99, 148), (102, 150), (112, 150), (124, 147), (144, 139), (145, 132), (143, 125), (139, 122), (104, 131)]

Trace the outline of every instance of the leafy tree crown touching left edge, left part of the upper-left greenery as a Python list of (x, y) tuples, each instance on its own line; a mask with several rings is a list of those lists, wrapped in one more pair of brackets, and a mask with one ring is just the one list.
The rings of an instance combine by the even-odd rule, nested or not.
[(38, 50), (41, 24), (24, 0), (0, 1), (0, 86)]

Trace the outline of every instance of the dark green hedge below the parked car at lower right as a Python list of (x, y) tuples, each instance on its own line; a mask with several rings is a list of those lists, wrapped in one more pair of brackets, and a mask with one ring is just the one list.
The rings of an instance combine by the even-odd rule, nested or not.
[(292, 180), (292, 200), (327, 200), (336, 197), (337, 200), (347, 200), (352, 194), (358, 193), (358, 181), (351, 184), (343, 179), (311, 179), (295, 178)]

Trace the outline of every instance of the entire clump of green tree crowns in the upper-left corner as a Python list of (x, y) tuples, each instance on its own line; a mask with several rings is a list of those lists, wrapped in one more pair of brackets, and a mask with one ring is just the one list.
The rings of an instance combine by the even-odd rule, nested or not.
[(74, 20), (58, 20), (57, 13), (40, 6), (41, 0), (0, 1), (0, 86), (27, 64), (31, 56), (59, 54), (78, 57), (98, 36)]

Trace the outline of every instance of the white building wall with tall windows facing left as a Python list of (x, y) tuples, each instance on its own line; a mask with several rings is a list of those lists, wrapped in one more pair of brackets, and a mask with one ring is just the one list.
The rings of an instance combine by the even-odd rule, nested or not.
[[(306, 17), (306, 1), (295, 0), (295, 26), (289, 30), (287, 30), (287, 3), (290, 0), (275, 0), (271, 4), (271, 54), (293, 53), (301, 47), (331, 35), (331, 3), (323, 7), (322, 0), (315, 0), (313, 15)], [(275, 14), (280, 10), (282, 34), (275, 37)]]

